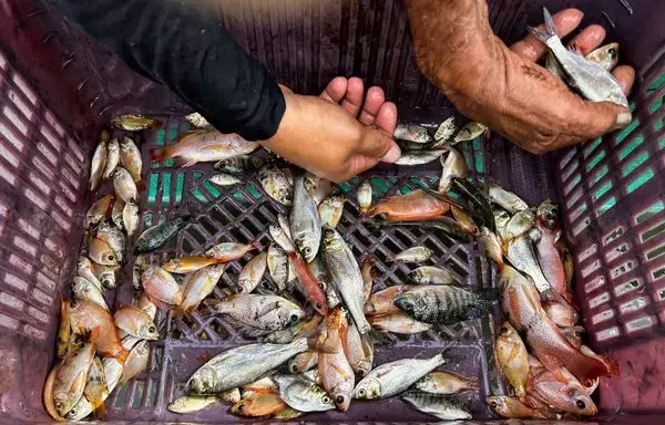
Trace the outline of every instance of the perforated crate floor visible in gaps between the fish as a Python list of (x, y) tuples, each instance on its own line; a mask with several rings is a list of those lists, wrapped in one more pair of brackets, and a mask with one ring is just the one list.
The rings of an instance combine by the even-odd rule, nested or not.
[[(178, 132), (187, 129), (181, 120), (167, 120), (165, 127), (144, 132), (142, 152), (145, 164), (150, 164), (147, 152), (155, 145), (173, 144)], [(480, 141), (462, 146), (471, 169), (480, 174), (484, 170), (484, 158)], [(434, 168), (440, 167), (438, 163)], [(172, 168), (172, 164), (153, 164), (147, 170), (146, 190), (142, 195), (143, 225), (150, 226), (177, 215), (193, 214), (195, 219), (171, 243), (150, 257), (152, 261), (185, 253), (201, 253), (221, 241), (249, 242), (259, 239), (268, 242), (267, 225), (276, 222), (278, 212), (287, 212), (282, 205), (269, 198), (256, 180), (249, 176), (239, 185), (221, 189), (207, 182), (214, 173), (211, 164), (191, 168)], [(403, 172), (402, 172), (403, 173)], [(364, 179), (369, 179), (374, 188), (375, 201), (383, 196), (406, 194), (420, 185), (434, 186), (438, 172), (428, 173), (428, 178), (398, 177), (392, 172), (380, 172), (361, 178), (354, 178), (335, 188), (344, 193), (347, 203), (338, 229), (351, 247), (358, 259), (369, 253), (378, 258), (380, 278), (375, 290), (386, 286), (407, 282), (407, 274), (413, 265), (386, 262), (386, 257), (406, 248), (423, 245), (436, 253), (429, 263), (452, 270), (471, 289), (489, 288), (494, 281), (494, 272), (479, 247), (437, 235), (429, 230), (406, 227), (377, 227), (371, 222), (358, 220), (356, 190)], [(247, 255), (241, 261), (231, 263), (215, 289), (213, 296), (222, 297), (222, 288), (233, 286), (243, 265), (252, 258)], [(119, 289), (116, 302), (132, 302), (131, 262), (124, 268), (125, 283)], [(268, 273), (264, 279), (269, 280)], [(501, 393), (503, 385), (493, 360), (493, 323), (497, 312), (479, 320), (438, 326), (436, 330), (412, 336), (393, 336), (391, 345), (377, 349), (377, 364), (410, 357), (431, 356), (446, 348), (450, 365), (446, 370), (470, 377), (477, 377), (481, 385), (479, 394), (464, 395), (461, 398), (471, 403), (474, 417), (487, 418), (490, 413), (483, 402), (488, 393)], [(232, 346), (256, 342), (244, 339), (219, 317), (212, 314), (204, 305), (200, 307), (191, 319), (175, 320), (163, 312), (157, 321), (165, 333), (162, 341), (152, 344), (152, 357), (149, 370), (129, 385), (117, 388), (108, 403), (110, 419), (164, 419), (164, 421), (211, 421), (237, 422), (231, 416), (228, 406), (219, 404), (207, 411), (176, 415), (166, 411), (171, 400), (182, 394), (188, 376), (209, 356)], [(328, 412), (308, 415), (307, 419), (320, 421), (374, 421), (395, 419), (395, 406), (399, 405), (400, 419), (424, 421), (424, 416), (402, 406), (398, 400), (355, 402), (347, 414)]]

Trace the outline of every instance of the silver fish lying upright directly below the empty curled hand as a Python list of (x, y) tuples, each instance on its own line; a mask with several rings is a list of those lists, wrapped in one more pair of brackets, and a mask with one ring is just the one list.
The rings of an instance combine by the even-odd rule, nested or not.
[(311, 262), (321, 243), (321, 218), (316, 203), (305, 188), (304, 177), (294, 184), (294, 203), (289, 216), (293, 241), (307, 262)]

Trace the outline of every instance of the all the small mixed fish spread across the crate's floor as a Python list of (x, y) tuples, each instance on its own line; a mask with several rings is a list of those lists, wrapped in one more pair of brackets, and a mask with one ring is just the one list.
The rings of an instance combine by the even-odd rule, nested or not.
[[(113, 124), (136, 131), (155, 125), (145, 124), (149, 120), (129, 115)], [(359, 263), (336, 230), (346, 199), (331, 182), (270, 155), (249, 156), (257, 144), (217, 132), (198, 114), (187, 121), (197, 128), (181, 135), (175, 145), (151, 151), (153, 160), (175, 158), (180, 166), (215, 162), (218, 174), (209, 179), (221, 186), (256, 173), (265, 193), (289, 214), (279, 214), (268, 225), (272, 241), (265, 249), (258, 240), (228, 241), (162, 263), (149, 262), (144, 253), (164, 246), (191, 217), (144, 230), (132, 252), (125, 250), (140, 221), (141, 156), (132, 142), (127, 151), (136, 157), (130, 160), (121, 153), (115, 159), (113, 141), (102, 133), (91, 189), (112, 176), (115, 196), (102, 197), (85, 217), (90, 258), (79, 262), (74, 301), (62, 303), (62, 360), (44, 388), (44, 403), (54, 418), (103, 413), (108, 394), (146, 366), (146, 340), (160, 338), (157, 309), (176, 319), (204, 309), (223, 317), (239, 335), (257, 341), (209, 359), (168, 404), (171, 412), (191, 413), (225, 402), (239, 416), (291, 419), (307, 412), (346, 412), (354, 398), (399, 396), (437, 418), (469, 419), (469, 406), (451, 396), (478, 392), (478, 383), (437, 371), (446, 363), (443, 353), (376, 365), (375, 345), (386, 344), (391, 333), (416, 334), (481, 318), (498, 304), (509, 321), (497, 339), (497, 359), (515, 396), (489, 397), (490, 407), (505, 417), (595, 413), (590, 394), (597, 377), (615, 373), (615, 366), (581, 343), (570, 287), (572, 259), (559, 240), (556, 207), (544, 201), (534, 211), (498, 185), (467, 179), (467, 163), (452, 145), (457, 138), (478, 136), (484, 131), (480, 125), (444, 123), (433, 142), (427, 129), (423, 135), (418, 126), (399, 127), (396, 137), (402, 142), (442, 146), (432, 158), (442, 165), (437, 190), (423, 186), (372, 204), (372, 188), (366, 182), (358, 188), (357, 201), (362, 219), (376, 226), (416, 226), (462, 241), (477, 238), (497, 262), (499, 290), (469, 290), (454, 272), (424, 265), (433, 255), (427, 247), (387, 258), (419, 267), (407, 284), (378, 290), (377, 258), (368, 256)], [(126, 141), (122, 143), (130, 145)], [(120, 201), (122, 208), (116, 207)], [(104, 219), (110, 209), (111, 219)], [(237, 280), (219, 288), (222, 299), (211, 297), (228, 262), (252, 252)], [(130, 255), (136, 255), (132, 276), (137, 305), (122, 307), (113, 318), (101, 288), (115, 284), (115, 270)]]

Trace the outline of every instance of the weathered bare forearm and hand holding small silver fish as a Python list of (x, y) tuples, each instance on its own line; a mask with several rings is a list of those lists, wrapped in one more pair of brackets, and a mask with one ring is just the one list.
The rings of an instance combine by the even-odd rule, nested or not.
[[(543, 154), (595, 138), (631, 123), (631, 112), (611, 102), (587, 102), (535, 64), (546, 48), (533, 35), (510, 49), (491, 31), (484, 0), (405, 0), (421, 72), (461, 113), (488, 125), (522, 148)], [(554, 15), (560, 37), (571, 33), (583, 13)], [(574, 44), (583, 54), (605, 38), (590, 25)], [(612, 72), (627, 94), (635, 80), (630, 66)]]

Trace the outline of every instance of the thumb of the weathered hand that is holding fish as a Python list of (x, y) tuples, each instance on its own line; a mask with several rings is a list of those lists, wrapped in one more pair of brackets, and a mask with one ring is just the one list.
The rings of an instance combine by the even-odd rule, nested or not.
[(573, 108), (570, 116), (573, 121), (572, 133), (584, 137), (595, 138), (605, 133), (624, 128), (631, 121), (631, 110), (614, 102), (589, 102), (580, 100), (580, 107)]

